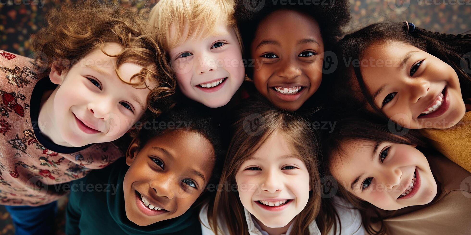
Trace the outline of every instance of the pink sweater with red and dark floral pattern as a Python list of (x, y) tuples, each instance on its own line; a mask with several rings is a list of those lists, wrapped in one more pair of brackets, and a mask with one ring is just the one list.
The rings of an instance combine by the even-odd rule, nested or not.
[(31, 62), (30, 58), (0, 50), (0, 204), (4, 205), (53, 202), (67, 193), (64, 183), (124, 156), (111, 142), (57, 153), (38, 141), (30, 105), (39, 103), (31, 99), (32, 91), (47, 74), (38, 74)]

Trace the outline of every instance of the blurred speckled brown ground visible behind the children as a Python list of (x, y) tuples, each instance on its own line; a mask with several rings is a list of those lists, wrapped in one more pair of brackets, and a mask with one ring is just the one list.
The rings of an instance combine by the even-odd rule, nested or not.
[[(43, 25), (48, 10), (62, 3), (75, 1), (0, 0), (0, 49), (18, 55), (30, 55), (32, 53), (30, 38), (34, 37), (32, 34)], [(157, 0), (110, 1), (136, 10), (153, 7), (157, 2)], [(347, 31), (379, 21), (408, 21), (430, 31), (471, 33), (471, 0), (350, 0), (350, 4), (352, 20)], [(66, 197), (59, 201), (56, 223), (58, 234), (64, 234), (62, 231), (66, 203)], [(0, 206), (0, 235), (13, 233), (9, 214)]]

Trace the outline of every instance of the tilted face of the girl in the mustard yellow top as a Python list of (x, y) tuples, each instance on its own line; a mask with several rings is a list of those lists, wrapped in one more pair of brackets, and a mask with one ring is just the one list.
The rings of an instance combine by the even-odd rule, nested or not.
[(394, 122), (412, 129), (448, 128), (463, 118), (458, 75), (439, 58), (398, 42), (375, 44), (362, 57), (372, 62), (361, 68), (365, 86)]

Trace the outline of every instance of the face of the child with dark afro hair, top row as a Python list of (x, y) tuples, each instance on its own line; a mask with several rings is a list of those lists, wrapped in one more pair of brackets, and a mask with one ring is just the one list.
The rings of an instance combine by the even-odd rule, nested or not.
[(278, 10), (260, 22), (250, 49), (255, 87), (278, 108), (298, 110), (319, 88), (324, 42), (315, 19)]

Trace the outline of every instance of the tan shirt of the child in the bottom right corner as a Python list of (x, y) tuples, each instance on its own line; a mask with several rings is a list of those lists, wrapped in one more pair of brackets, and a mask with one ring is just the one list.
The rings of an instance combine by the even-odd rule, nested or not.
[(406, 207), (385, 219), (388, 234), (471, 234), (471, 173), (446, 157), (427, 158), (439, 182), (438, 196), (427, 205)]

